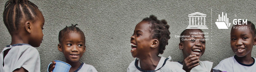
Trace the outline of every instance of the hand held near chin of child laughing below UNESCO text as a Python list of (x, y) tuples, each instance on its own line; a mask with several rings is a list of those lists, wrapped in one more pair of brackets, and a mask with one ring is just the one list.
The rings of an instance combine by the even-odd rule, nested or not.
[(186, 72), (190, 72), (192, 68), (199, 65), (199, 58), (196, 57), (196, 55), (189, 55), (184, 61), (183, 61), (183, 70)]

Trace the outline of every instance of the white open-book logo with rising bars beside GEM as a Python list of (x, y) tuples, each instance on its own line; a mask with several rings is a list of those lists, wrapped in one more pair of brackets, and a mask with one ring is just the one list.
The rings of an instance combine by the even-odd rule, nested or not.
[(217, 22), (215, 22), (215, 24), (217, 25), (218, 29), (228, 29), (228, 27), (230, 27), (231, 23), (228, 22), (228, 18), (227, 18), (227, 13), (225, 14), (225, 16), (223, 16), (223, 12), (222, 12), (222, 17), (220, 17), (217, 19)]

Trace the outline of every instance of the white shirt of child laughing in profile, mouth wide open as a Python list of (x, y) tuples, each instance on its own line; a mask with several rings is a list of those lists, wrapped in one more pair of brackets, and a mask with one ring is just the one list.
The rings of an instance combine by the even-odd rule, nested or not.
[[(161, 57), (155, 70), (159, 69), (160, 67), (161, 68), (155, 72), (185, 72), (182, 68), (180, 68), (176, 64), (175, 65), (171, 64), (171, 62), (169, 61), (171, 59), (170, 56), (169, 56), (169, 59), (166, 61), (165, 65), (163, 66), (165, 59), (166, 59), (165, 57)], [(141, 67), (140, 61), (138, 62), (138, 66)], [(141, 72), (136, 68), (135, 60), (130, 63), (130, 65), (127, 68), (127, 72)]]

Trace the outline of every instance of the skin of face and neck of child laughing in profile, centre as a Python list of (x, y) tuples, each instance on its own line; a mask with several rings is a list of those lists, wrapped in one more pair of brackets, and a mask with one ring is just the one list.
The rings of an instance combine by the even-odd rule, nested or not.
[(150, 37), (149, 29), (150, 24), (147, 21), (141, 21), (136, 25), (131, 36), (131, 43), (137, 45), (135, 50), (131, 50), (132, 57), (140, 59), (143, 70), (155, 70), (161, 59), (158, 56), (159, 41)]

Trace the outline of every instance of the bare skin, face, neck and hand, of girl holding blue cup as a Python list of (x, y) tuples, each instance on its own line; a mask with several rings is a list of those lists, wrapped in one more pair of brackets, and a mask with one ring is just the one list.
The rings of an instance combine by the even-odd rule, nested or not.
[[(63, 52), (66, 58), (66, 63), (71, 65), (69, 72), (74, 72), (81, 65), (79, 60), (85, 52), (85, 47), (84, 36), (74, 31), (65, 34), (62, 43), (58, 44), (58, 50)], [(49, 66), (49, 71), (51, 72), (53, 71), (56, 62), (53, 61), (52, 63), (53, 64)]]

